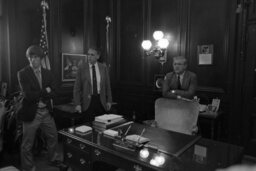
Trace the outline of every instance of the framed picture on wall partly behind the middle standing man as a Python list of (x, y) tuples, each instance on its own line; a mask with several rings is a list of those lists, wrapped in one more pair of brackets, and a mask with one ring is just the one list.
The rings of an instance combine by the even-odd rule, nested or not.
[(62, 53), (62, 81), (75, 81), (79, 65), (87, 62), (85, 54)]

